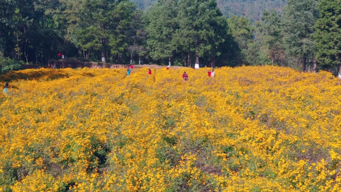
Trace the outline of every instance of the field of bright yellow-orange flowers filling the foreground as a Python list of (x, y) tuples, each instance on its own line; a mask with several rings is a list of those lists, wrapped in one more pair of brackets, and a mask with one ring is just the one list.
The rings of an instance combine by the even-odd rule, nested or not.
[(3, 192), (340, 192), (341, 81), (281, 67), (39, 69), (0, 94)]

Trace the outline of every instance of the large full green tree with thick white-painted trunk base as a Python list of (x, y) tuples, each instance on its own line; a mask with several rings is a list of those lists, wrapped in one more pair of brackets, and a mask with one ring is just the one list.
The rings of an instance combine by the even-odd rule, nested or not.
[(225, 18), (217, 7), (216, 0), (179, 0), (178, 7), (179, 43), (188, 52), (195, 52), (195, 68), (199, 68), (199, 57), (217, 49), (225, 41), (224, 35), (227, 33), (222, 35), (215, 31), (226, 28)]

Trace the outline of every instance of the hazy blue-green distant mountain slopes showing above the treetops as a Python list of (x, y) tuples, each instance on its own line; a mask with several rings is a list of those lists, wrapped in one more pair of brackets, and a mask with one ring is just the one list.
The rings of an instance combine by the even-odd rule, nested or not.
[[(156, 0), (131, 0), (140, 9), (147, 9)], [(282, 11), (286, 0), (217, 0), (221, 12), (230, 17), (232, 14), (246, 16), (252, 21), (260, 20), (263, 10), (275, 8)]]

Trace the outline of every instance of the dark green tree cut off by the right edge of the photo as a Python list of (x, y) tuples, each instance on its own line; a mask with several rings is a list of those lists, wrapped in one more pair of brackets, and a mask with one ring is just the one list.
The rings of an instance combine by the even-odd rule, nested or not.
[(341, 2), (322, 0), (320, 18), (316, 23), (317, 60), (323, 65), (338, 67), (341, 78)]

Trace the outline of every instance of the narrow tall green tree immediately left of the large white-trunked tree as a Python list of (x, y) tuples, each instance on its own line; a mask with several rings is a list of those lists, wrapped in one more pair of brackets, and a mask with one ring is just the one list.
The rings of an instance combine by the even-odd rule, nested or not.
[(178, 24), (176, 22), (177, 3), (175, 0), (158, 0), (145, 13), (147, 31), (147, 47), (154, 60), (169, 59), (176, 50), (177, 43), (174, 39)]

